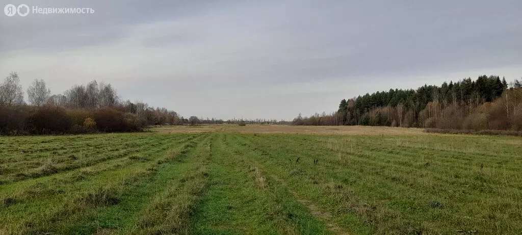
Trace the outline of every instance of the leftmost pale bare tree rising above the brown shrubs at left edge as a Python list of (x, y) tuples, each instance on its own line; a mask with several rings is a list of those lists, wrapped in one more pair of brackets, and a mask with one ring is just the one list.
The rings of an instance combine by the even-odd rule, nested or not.
[(23, 90), (16, 72), (11, 72), (0, 85), (0, 105), (23, 103)]

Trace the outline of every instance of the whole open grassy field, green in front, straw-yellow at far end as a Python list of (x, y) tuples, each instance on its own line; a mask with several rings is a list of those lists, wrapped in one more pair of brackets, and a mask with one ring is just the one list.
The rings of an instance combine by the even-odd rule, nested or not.
[(0, 234), (522, 233), (520, 137), (244, 127), (0, 137)]

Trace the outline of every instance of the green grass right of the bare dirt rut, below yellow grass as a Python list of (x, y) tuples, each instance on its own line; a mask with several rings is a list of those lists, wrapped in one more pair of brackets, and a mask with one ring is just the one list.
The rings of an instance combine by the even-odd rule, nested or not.
[(519, 138), (235, 138), (267, 172), (353, 233), (522, 233)]

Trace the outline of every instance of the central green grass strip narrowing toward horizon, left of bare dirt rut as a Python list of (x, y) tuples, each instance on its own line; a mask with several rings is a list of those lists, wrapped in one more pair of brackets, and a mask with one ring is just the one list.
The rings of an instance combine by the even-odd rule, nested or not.
[(191, 234), (335, 234), (220, 133)]

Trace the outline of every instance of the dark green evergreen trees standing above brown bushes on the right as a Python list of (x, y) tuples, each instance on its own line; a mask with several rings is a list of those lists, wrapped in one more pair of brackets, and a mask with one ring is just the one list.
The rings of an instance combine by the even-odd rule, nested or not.
[[(420, 112), (426, 109), (429, 102), (435, 102), (434, 107), (441, 109), (449, 104), (465, 105), (470, 111), (473, 106), (483, 102), (493, 102), (496, 98), (501, 97), (505, 86), (507, 86), (505, 78), (501, 80), (496, 75), (481, 75), (476, 80), (468, 77), (455, 83), (453, 81), (450, 81), (449, 84), (444, 82), (440, 87), (425, 84), (416, 90), (389, 89), (388, 91), (377, 91), (371, 95), (366, 93), (356, 98), (343, 99), (337, 113), (342, 116), (340, 117), (341, 122), (347, 125), (390, 125), (392, 124), (390, 115), (397, 114), (388, 111), (387, 116), (383, 116), (384, 114), (377, 109), (396, 108), (400, 103), (404, 105), (404, 108), (401, 108), (404, 109), (402, 113), (409, 113), (410, 123), (408, 125), (420, 126), (418, 123)], [(522, 80), (515, 80), (513, 86), (522, 87)]]

